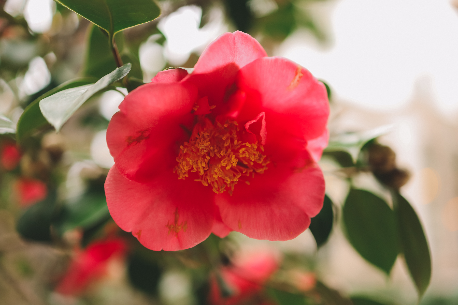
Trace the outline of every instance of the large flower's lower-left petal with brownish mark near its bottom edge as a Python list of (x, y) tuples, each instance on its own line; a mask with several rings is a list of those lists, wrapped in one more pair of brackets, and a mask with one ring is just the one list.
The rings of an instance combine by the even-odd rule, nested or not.
[(105, 194), (111, 216), (148, 249), (176, 251), (204, 241), (213, 227), (214, 193), (192, 179), (164, 171), (148, 183), (128, 181), (115, 167)]

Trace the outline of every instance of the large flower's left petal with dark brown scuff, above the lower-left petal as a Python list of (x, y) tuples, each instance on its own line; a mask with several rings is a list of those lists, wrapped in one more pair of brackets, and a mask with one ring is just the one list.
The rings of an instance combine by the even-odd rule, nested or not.
[(183, 127), (191, 128), (195, 102), (196, 88), (183, 83), (149, 83), (127, 95), (107, 130), (118, 171), (129, 180), (148, 181), (173, 168), (178, 143), (189, 139)]

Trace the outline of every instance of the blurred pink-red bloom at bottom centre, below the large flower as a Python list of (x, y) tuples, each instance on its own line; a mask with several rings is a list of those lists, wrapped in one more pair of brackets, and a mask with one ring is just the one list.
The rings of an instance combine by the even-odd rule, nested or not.
[[(221, 279), (229, 289), (224, 297), (215, 277), (210, 284), (210, 302), (215, 305), (235, 305), (262, 290), (262, 284), (278, 269), (278, 258), (272, 252), (256, 251), (235, 257), (232, 265), (221, 269)], [(245, 303), (243, 303), (245, 304)], [(250, 303), (251, 304), (251, 303)]]

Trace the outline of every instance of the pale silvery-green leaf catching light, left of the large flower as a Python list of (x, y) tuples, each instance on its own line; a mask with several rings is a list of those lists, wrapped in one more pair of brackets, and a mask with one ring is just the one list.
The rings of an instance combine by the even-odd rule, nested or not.
[(105, 75), (94, 85), (84, 85), (59, 91), (39, 102), (43, 116), (51, 123), (56, 131), (71, 117), (79, 107), (96, 92), (123, 78), (131, 70), (131, 64), (125, 64), (108, 75)]

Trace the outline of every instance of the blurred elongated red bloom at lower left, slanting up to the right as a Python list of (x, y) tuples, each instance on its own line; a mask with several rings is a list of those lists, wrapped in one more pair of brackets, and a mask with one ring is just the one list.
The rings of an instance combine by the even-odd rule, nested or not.
[(111, 258), (123, 257), (125, 251), (125, 242), (120, 238), (94, 241), (76, 254), (55, 290), (65, 295), (81, 294), (93, 280), (104, 275)]

